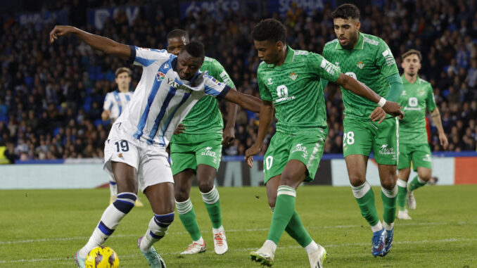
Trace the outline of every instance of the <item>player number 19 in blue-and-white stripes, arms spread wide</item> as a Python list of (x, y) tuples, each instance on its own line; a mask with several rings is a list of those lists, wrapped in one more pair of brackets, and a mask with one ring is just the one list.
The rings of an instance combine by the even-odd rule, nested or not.
[(203, 96), (225, 98), (254, 112), (260, 111), (260, 100), (200, 72), (205, 51), (199, 42), (190, 42), (175, 56), (165, 50), (119, 44), (71, 26), (54, 27), (50, 41), (66, 34), (75, 34), (92, 48), (129, 59), (143, 68), (134, 98), (111, 127), (105, 142), (103, 168), (115, 177), (117, 200), (103, 212), (89, 241), (75, 254), (75, 261), (84, 267), (89, 250), (113, 234), (120, 220), (134, 208), (141, 180), (139, 187), (154, 215), (137, 245), (151, 267), (165, 267), (153, 243), (165, 236), (174, 220), (174, 179), (165, 151), (174, 129)]

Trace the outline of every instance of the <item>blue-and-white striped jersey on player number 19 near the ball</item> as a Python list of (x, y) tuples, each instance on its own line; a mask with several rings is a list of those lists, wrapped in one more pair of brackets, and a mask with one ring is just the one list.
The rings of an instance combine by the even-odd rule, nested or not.
[(179, 122), (203, 96), (223, 98), (231, 89), (207, 72), (198, 72), (190, 81), (174, 70), (177, 56), (165, 50), (131, 46), (129, 60), (143, 67), (134, 98), (116, 120), (134, 139), (166, 147)]

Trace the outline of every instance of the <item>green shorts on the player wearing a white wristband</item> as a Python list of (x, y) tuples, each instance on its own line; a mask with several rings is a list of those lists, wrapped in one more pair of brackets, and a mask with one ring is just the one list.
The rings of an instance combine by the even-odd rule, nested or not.
[(281, 174), (286, 163), (292, 159), (305, 164), (308, 171), (305, 181), (313, 181), (314, 174), (317, 173), (319, 160), (322, 159), (326, 133), (327, 129), (319, 135), (292, 135), (276, 132), (263, 158), (265, 184), (272, 177)]

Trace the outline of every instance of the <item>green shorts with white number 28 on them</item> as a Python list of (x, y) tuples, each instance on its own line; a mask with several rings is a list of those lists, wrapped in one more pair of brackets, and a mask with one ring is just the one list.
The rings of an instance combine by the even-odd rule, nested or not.
[(394, 118), (381, 124), (371, 121), (346, 119), (343, 122), (343, 155), (366, 155), (371, 150), (374, 159), (381, 165), (396, 165), (398, 162), (397, 125)]

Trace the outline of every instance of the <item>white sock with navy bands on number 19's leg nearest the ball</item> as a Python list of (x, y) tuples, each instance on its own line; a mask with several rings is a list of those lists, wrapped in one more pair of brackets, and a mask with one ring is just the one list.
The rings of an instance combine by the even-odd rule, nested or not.
[(86, 257), (89, 251), (103, 244), (113, 234), (121, 219), (134, 208), (136, 202), (135, 193), (119, 193), (115, 202), (104, 210), (98, 226), (93, 231), (89, 241), (79, 250), (79, 257)]

